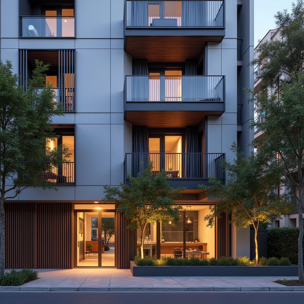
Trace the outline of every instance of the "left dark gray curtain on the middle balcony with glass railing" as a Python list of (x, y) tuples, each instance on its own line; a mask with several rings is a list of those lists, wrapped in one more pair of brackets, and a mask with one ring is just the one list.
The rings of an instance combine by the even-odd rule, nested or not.
[[(132, 75), (149, 75), (147, 59), (133, 59)], [(149, 101), (149, 77), (132, 77), (131, 101)]]

